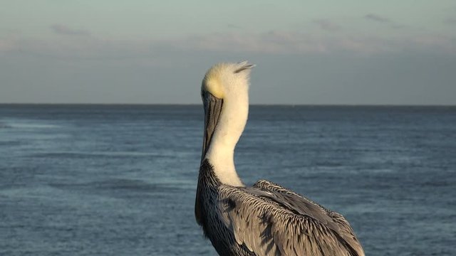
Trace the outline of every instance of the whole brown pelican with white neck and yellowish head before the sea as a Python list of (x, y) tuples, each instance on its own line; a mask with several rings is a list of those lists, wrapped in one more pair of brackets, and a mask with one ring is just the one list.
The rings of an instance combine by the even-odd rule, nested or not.
[(204, 140), (195, 216), (219, 255), (364, 255), (348, 221), (270, 181), (244, 186), (234, 146), (249, 112), (254, 65), (219, 63), (202, 80)]

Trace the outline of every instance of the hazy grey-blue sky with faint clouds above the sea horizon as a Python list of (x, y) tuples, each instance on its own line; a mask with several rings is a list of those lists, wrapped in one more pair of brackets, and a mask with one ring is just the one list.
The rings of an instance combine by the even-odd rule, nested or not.
[(454, 0), (0, 6), (0, 103), (200, 104), (249, 60), (252, 104), (456, 105)]

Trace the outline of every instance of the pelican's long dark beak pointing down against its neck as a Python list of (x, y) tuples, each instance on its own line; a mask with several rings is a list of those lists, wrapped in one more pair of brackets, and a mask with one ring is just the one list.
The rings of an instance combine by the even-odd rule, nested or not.
[(215, 127), (219, 122), (220, 113), (222, 112), (223, 100), (215, 97), (211, 93), (202, 91), (202, 103), (204, 105), (204, 137), (202, 142), (201, 162), (206, 156), (207, 149), (211, 143)]

